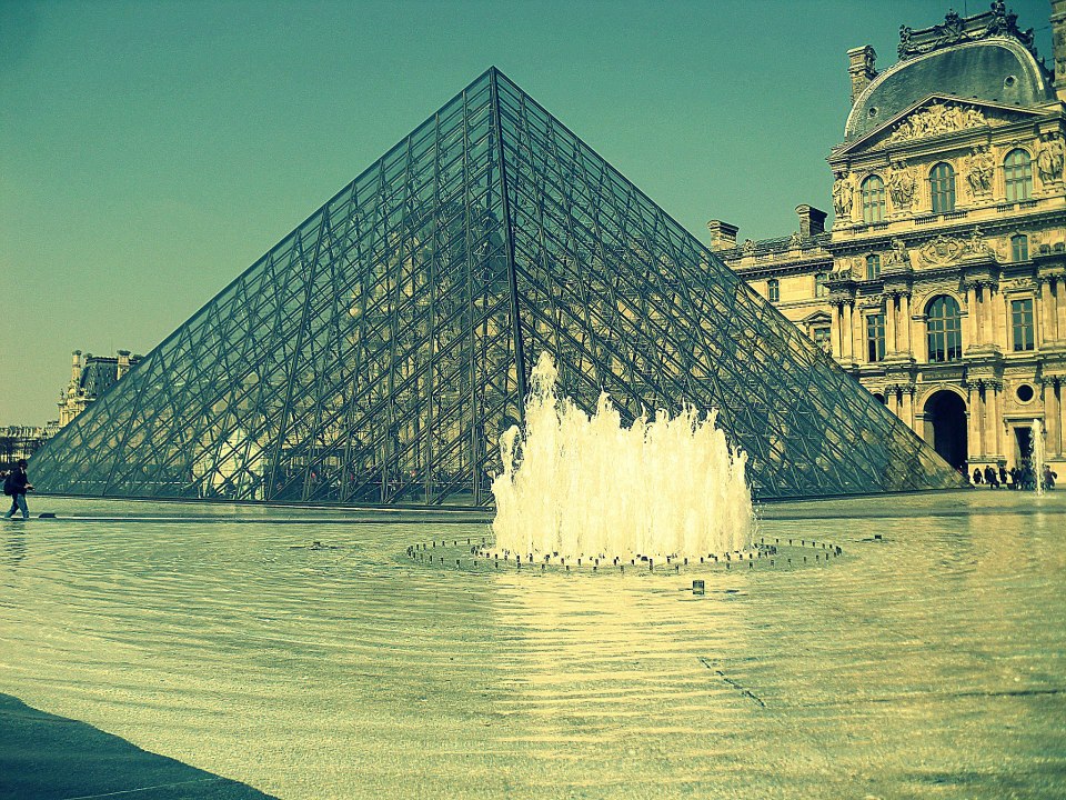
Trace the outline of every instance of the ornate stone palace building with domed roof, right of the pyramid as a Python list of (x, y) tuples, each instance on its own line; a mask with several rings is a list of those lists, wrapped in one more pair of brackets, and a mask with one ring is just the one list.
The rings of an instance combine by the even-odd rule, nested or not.
[(955, 467), (1027, 458), (1033, 421), (1060, 476), (1066, 393), (1066, 0), (1054, 66), (1003, 2), (901, 28), (883, 71), (849, 50), (852, 110), (831, 150), (835, 221), (725, 262)]

